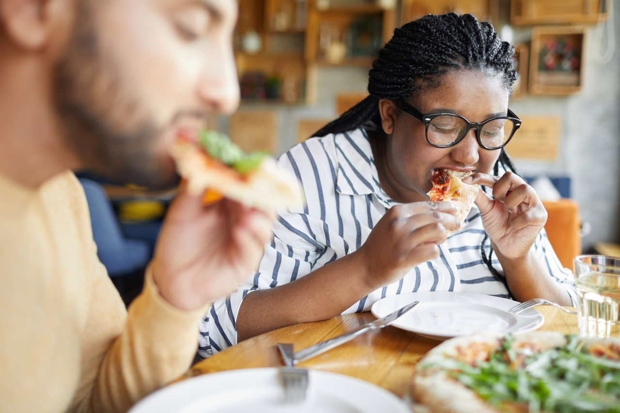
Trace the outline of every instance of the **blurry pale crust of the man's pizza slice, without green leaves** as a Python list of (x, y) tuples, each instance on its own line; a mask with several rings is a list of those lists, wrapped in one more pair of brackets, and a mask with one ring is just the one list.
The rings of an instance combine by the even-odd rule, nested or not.
[(194, 195), (209, 189), (270, 213), (277, 208), (304, 205), (298, 180), (281, 171), (273, 158), (265, 157), (254, 171), (239, 174), (223, 162), (206, 156), (192, 143), (177, 141), (170, 154), (179, 174), (187, 179), (188, 192)]

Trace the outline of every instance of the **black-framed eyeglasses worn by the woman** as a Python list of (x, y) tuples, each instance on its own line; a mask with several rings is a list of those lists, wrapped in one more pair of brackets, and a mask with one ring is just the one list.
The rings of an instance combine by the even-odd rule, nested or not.
[(423, 115), (404, 100), (396, 100), (403, 112), (411, 115), (426, 126), (427, 142), (437, 148), (449, 148), (459, 143), (470, 129), (476, 130), (478, 144), (484, 149), (500, 149), (521, 126), (521, 120), (508, 109), (508, 116), (489, 118), (484, 122), (469, 122), (454, 113), (430, 113)]

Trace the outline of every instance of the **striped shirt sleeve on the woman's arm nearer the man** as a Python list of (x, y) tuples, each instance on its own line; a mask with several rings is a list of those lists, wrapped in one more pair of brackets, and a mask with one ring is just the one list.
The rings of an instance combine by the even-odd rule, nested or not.
[(315, 163), (319, 158), (322, 162), (334, 162), (332, 156), (319, 140), (310, 140), (280, 157), (278, 165), (296, 175), (308, 205), (297, 210), (278, 211), (273, 240), (265, 244), (257, 271), (228, 298), (215, 301), (205, 314), (198, 336), (201, 357), (209, 357), (237, 343), (237, 314), (249, 293), (292, 282), (338, 258), (330, 244), (329, 225), (319, 202), (325, 193), (335, 192), (335, 174)]

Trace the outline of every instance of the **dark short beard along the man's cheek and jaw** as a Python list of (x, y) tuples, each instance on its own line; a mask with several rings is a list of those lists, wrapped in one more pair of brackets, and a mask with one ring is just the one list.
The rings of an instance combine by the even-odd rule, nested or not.
[(64, 126), (64, 139), (84, 168), (119, 184), (150, 189), (176, 185), (174, 163), (157, 139), (157, 127), (119, 66), (97, 41), (90, 2), (81, 2), (67, 52), (55, 69), (55, 106)]

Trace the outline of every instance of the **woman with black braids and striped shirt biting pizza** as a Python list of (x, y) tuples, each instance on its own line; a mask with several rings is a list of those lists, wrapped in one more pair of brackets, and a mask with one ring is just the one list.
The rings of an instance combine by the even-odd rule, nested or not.
[[(411, 291), (573, 305), (573, 277), (542, 230), (541, 200), (502, 149), (511, 128), (497, 142), (469, 123), (518, 123), (508, 110), (513, 55), (472, 15), (396, 29), (373, 63), (370, 96), (280, 158), (308, 207), (281, 213), (259, 271), (215, 303), (201, 325), (201, 355)], [(459, 133), (439, 141), (441, 128)], [(472, 171), (464, 182), (492, 197), (479, 190), (461, 224), (453, 203), (428, 200), (436, 169)]]

